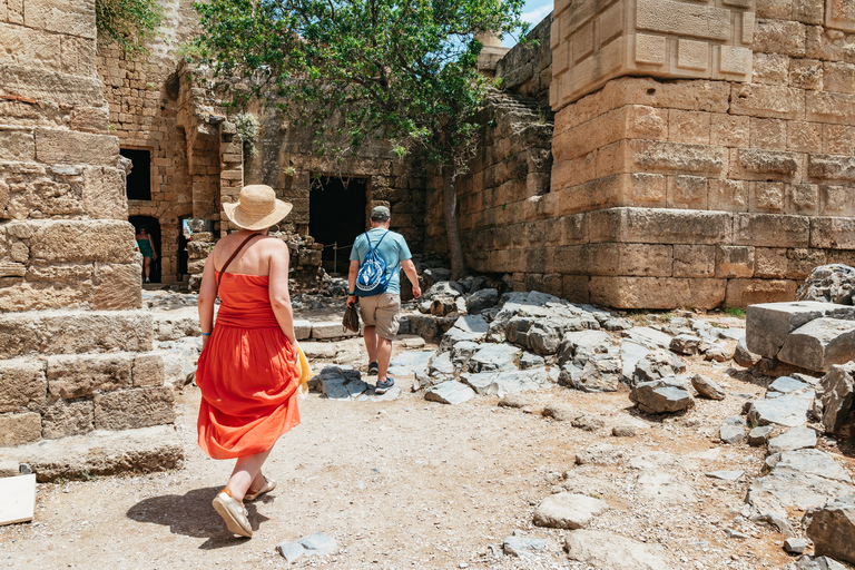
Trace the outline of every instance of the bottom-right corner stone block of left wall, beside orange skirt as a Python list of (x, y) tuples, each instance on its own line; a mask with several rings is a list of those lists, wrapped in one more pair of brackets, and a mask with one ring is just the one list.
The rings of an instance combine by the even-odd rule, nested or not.
[(95, 396), (98, 430), (132, 430), (175, 422), (171, 386), (135, 387)]

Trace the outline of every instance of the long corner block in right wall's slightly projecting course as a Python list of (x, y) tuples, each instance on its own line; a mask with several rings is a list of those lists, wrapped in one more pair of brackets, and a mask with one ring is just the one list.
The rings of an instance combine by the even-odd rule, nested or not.
[(731, 216), (720, 212), (612, 208), (588, 216), (591, 243), (719, 245), (731, 240)]

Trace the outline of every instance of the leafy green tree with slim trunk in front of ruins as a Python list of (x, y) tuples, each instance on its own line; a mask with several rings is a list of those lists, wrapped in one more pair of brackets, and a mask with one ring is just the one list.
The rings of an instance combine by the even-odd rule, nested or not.
[(473, 156), (474, 115), (489, 87), (476, 69), (483, 47), (476, 36), (524, 32), (523, 2), (210, 0), (195, 8), (198, 45), (216, 73), (252, 78), (239, 96), (275, 95), (292, 116), (303, 114), (318, 128), (334, 117), (345, 146), (380, 137), (441, 176), (458, 278), (466, 266), (455, 180)]

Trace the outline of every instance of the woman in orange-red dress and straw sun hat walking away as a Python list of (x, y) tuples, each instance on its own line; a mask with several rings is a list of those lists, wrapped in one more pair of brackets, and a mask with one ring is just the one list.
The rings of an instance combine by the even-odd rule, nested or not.
[(229, 531), (252, 537), (243, 501), (276, 487), (262, 474), (262, 465), (276, 440), (299, 424), (299, 346), (288, 295), (288, 246), (266, 236), (292, 205), (258, 185), (246, 186), (236, 204), (223, 208), (242, 229), (217, 243), (203, 273), (199, 446), (213, 459), (237, 459), (213, 505)]

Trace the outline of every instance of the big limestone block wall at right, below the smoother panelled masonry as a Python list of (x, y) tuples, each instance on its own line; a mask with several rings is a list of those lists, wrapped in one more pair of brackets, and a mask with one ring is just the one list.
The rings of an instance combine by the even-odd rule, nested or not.
[[(561, 91), (544, 217), (563, 227), (550, 267), (564, 296), (745, 306), (855, 261), (855, 20), (842, 6), (758, 2), (745, 82), (627, 77), (566, 106)], [(754, 7), (739, 8), (745, 22)]]

